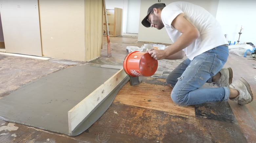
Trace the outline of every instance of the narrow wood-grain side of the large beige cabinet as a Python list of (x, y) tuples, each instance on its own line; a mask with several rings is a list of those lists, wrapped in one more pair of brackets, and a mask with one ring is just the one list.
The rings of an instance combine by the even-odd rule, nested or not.
[(85, 61), (100, 56), (103, 35), (102, 0), (85, 0)]

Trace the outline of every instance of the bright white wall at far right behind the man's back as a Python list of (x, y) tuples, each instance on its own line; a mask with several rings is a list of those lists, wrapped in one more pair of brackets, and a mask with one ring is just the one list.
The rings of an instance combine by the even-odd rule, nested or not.
[(222, 25), (224, 34), (227, 34), (227, 40), (237, 41), (238, 32), (244, 24), (239, 43), (252, 42), (256, 45), (255, 6), (254, 0), (219, 0), (216, 19)]

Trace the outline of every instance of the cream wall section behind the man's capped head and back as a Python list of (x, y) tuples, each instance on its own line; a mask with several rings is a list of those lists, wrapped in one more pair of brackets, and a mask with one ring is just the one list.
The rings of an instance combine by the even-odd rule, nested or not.
[[(166, 5), (171, 2), (175, 2), (176, 0), (161, 0), (161, 3), (165, 3)], [(199, 5), (206, 10), (208, 10), (213, 16), (216, 16), (217, 8), (219, 0), (183, 0), (187, 2), (191, 2), (193, 4)], [(141, 0), (140, 4), (140, 17), (139, 17), (139, 35), (138, 41), (145, 42), (156, 42), (156, 43), (166, 43), (172, 44), (173, 42), (170, 40), (165, 28), (158, 30), (156, 28), (146, 28), (141, 24), (142, 19), (146, 16), (148, 8), (158, 3), (158, 0)]]

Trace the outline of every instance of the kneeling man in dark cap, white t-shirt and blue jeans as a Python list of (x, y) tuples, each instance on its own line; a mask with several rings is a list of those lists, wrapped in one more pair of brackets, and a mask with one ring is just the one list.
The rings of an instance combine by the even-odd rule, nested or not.
[[(165, 27), (174, 42), (165, 50), (149, 50), (151, 57), (182, 59), (188, 57), (167, 77), (173, 87), (171, 97), (180, 106), (206, 102), (253, 100), (249, 84), (241, 78), (232, 83), (232, 69), (222, 69), (228, 57), (227, 41), (218, 21), (204, 8), (188, 2), (152, 5), (141, 22), (145, 27)], [(218, 88), (200, 88), (215, 83)]]

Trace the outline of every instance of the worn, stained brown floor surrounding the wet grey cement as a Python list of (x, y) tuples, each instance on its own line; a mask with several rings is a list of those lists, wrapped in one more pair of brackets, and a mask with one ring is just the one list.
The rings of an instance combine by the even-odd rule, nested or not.
[[(122, 67), (126, 46), (145, 44), (134, 37), (111, 37), (112, 57), (107, 58), (104, 37), (101, 56), (89, 63), (60, 59), (34, 59), (0, 54), (0, 98), (39, 77), (79, 64)], [(158, 71), (172, 70), (182, 60), (161, 60)], [(256, 60), (230, 54), (224, 67), (233, 69), (256, 95)], [(237, 142), (256, 140), (256, 103), (238, 105), (229, 101), (180, 107), (162, 79), (140, 77), (142, 83), (127, 83), (110, 108), (81, 135), (70, 137), (0, 119), (0, 143), (82, 143), (82, 142)]]

